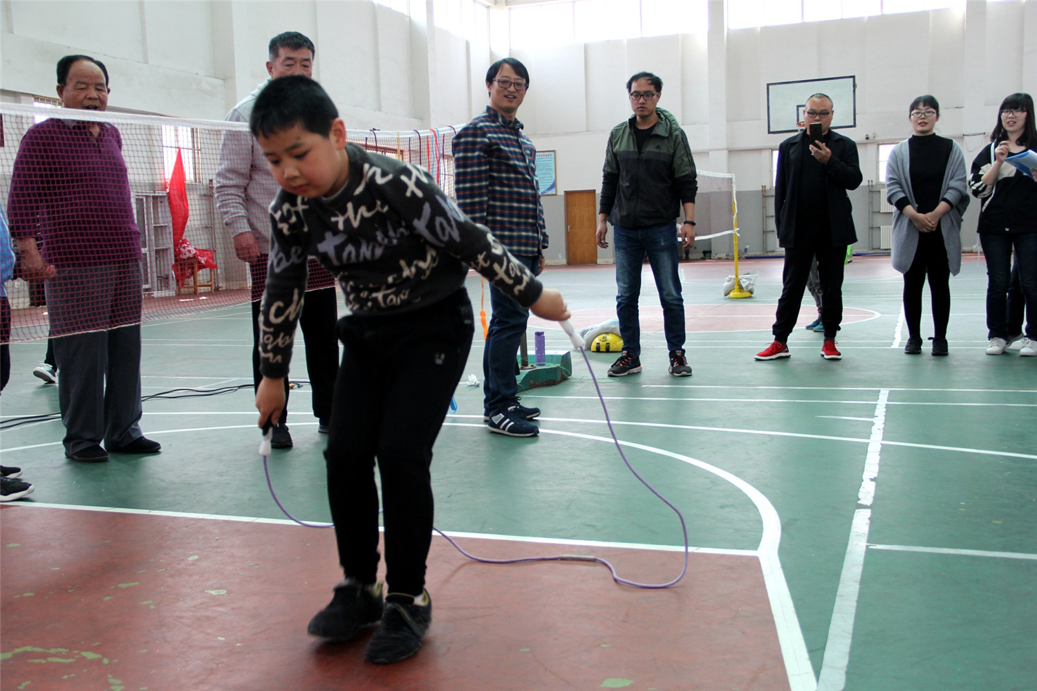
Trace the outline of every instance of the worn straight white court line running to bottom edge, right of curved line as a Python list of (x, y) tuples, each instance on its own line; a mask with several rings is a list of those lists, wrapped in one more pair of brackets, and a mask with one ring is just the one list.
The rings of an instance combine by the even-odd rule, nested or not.
[(868, 454), (864, 462), (864, 475), (858, 492), (858, 506), (853, 512), (846, 556), (843, 559), (839, 588), (832, 609), (829, 638), (824, 644), (821, 673), (817, 679), (817, 691), (842, 691), (846, 686), (846, 667), (849, 664), (849, 647), (853, 639), (853, 621), (857, 618), (857, 603), (861, 592), (861, 575), (864, 572), (864, 553), (871, 530), (871, 504), (875, 499), (875, 481), (882, 448), (882, 431), (886, 427), (886, 402), (890, 392), (878, 392), (875, 417), (868, 441)]

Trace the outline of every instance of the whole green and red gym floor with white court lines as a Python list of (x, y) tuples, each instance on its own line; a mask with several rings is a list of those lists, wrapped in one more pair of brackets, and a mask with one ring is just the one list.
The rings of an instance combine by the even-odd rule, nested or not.
[[(35, 492), (0, 509), (0, 687), (1037, 689), (1037, 358), (984, 354), (982, 259), (965, 255), (951, 281), (950, 356), (936, 358), (928, 342), (903, 354), (889, 257), (854, 257), (837, 362), (798, 327), (790, 359), (754, 361), (780, 259), (742, 261), (759, 280), (738, 301), (722, 297), (730, 262), (680, 270), (694, 376), (667, 374), (647, 266), (644, 371), (609, 379), (615, 355), (590, 361), (623, 451), (683, 514), (686, 576), (646, 590), (587, 561), (479, 564), (437, 535), (433, 625), (388, 667), (363, 662), (369, 634), (306, 635), (341, 576), (332, 531), (291, 524), (271, 498), (250, 390), (146, 400), (162, 453), (80, 464), (63, 457), (60, 421), (8, 426), (58, 407), (29, 374), (45, 343), (12, 344), (0, 461)], [(543, 278), (579, 329), (614, 315), (613, 272)], [(478, 309), (479, 278), (468, 287)], [(808, 295), (801, 325), (813, 312)], [(144, 394), (250, 383), (248, 322), (241, 305), (145, 324)], [(568, 348), (531, 320), (541, 329), (549, 352)], [(481, 358), (477, 338), (466, 379), (481, 382)], [(489, 434), (481, 387), (461, 382), (432, 462), (436, 525), (478, 555), (597, 555), (623, 578), (669, 581), (680, 523), (623, 465), (587, 365), (572, 363), (568, 381), (524, 392), (543, 411), (533, 439)], [(326, 437), (309, 395), (292, 392), (295, 447), (270, 467), (288, 510), (323, 522)]]

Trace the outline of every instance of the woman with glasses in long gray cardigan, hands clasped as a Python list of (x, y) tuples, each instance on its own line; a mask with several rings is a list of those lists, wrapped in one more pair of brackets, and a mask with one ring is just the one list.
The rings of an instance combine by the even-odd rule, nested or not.
[(915, 133), (890, 154), (886, 198), (893, 213), (893, 268), (904, 275), (904, 353), (922, 352), (922, 286), (932, 297), (932, 354), (947, 355), (951, 314), (950, 278), (961, 270), (961, 216), (969, 206), (965, 159), (951, 139), (933, 134), (940, 103), (931, 95), (912, 102)]

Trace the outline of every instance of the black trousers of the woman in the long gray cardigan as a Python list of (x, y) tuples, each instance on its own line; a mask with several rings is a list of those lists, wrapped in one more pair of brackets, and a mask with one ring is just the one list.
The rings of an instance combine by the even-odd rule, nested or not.
[(922, 286), (927, 275), (932, 298), (933, 336), (947, 338), (947, 323), (951, 317), (951, 268), (944, 233), (938, 226), (932, 232), (919, 233), (915, 259), (904, 273), (904, 321), (907, 334), (913, 338), (922, 337)]

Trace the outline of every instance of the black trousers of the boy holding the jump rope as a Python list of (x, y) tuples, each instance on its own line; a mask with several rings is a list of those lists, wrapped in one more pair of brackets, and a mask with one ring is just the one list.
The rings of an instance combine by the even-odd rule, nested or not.
[(376, 579), (376, 460), (386, 582), (390, 592), (421, 595), (432, 532), (432, 444), (468, 362), (473, 325), (464, 288), (417, 311), (339, 321), (345, 349), (325, 458), (346, 577)]

